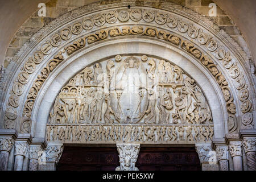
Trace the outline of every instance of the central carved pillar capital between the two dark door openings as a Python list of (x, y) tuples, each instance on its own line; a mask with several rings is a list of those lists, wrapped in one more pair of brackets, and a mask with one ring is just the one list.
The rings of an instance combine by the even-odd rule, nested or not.
[(138, 171), (135, 163), (138, 159), (140, 144), (138, 143), (117, 143), (120, 166), (115, 171)]

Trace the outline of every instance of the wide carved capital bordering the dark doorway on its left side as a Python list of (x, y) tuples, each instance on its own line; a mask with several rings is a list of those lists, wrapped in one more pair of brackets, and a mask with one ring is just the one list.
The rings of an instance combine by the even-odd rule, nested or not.
[(48, 146), (45, 150), (46, 162), (58, 163), (62, 155), (63, 149), (63, 145)]

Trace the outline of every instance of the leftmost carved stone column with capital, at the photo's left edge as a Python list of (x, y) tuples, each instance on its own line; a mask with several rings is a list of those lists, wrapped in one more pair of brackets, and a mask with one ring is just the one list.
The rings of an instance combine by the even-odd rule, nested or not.
[(0, 138), (0, 171), (7, 171), (9, 154), (13, 145), (13, 138)]

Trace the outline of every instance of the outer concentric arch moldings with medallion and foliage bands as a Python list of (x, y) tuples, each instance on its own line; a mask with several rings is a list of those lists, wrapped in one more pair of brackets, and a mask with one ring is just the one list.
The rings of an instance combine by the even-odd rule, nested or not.
[[(128, 10), (127, 5), (131, 5), (131, 9)], [(41, 75), (38, 79), (47, 78), (48, 76), (40, 74), (42, 70), (51, 72), (55, 66), (61, 64), (61, 61), (78, 49), (106, 40), (104, 34), (107, 31), (110, 39), (122, 36), (147, 36), (166, 41), (198, 57), (202, 64), (208, 61), (206, 67), (212, 61), (218, 73), (221, 73), (222, 81), (226, 81), (223, 84), (219, 78), (216, 80), (221, 82), (223, 97), (228, 104), (228, 113), (231, 111), (229, 113), (229, 120), (232, 122), (230, 132), (236, 131), (240, 126), (254, 127), (254, 99), (251, 98), (255, 98), (255, 91), (254, 86), (250, 86), (254, 83), (246, 67), (247, 57), (241, 51), (242, 49), (225, 32), (219, 31), (212, 22), (191, 10), (184, 8), (181, 10), (181, 6), (167, 2), (157, 9), (155, 6), (151, 8), (150, 2), (143, 3), (143, 7), (138, 6), (138, 3), (136, 5), (130, 1), (104, 6), (101, 3), (94, 3), (53, 20), (36, 33), (30, 40), (29, 46), (27, 43), (20, 49), (16, 56), (18, 65), (6, 77), (4, 90), (7, 92), (2, 94), (4, 103), (2, 112), (5, 112), (1, 114), (2, 117), (4, 115), (1, 118), (1, 121), (4, 121), (2, 127), (22, 129), (21, 132), (29, 133), (30, 114), (36, 97), (28, 98), (28, 92), (29, 90), (31, 93), (34, 92), (31, 89), (36, 77)], [(99, 10), (101, 10), (100, 13)], [(121, 10), (127, 11), (127, 14), (121, 15)], [(152, 11), (154, 17), (146, 18), (145, 11)], [(53, 28), (51, 27), (53, 24), (59, 26)], [(117, 29), (114, 30), (114, 27)], [(124, 27), (130, 29), (125, 30)], [(84, 45), (82, 45), (83, 39), (86, 39)], [(49, 64), (47, 68), (49, 62), (51, 65)], [(36, 90), (36, 94), (39, 90)], [(27, 115), (27, 113), (30, 114)], [(239, 121), (240, 117), (241, 121)], [(236, 118), (239, 119), (238, 124), (235, 125), (236, 121), (233, 120)]]

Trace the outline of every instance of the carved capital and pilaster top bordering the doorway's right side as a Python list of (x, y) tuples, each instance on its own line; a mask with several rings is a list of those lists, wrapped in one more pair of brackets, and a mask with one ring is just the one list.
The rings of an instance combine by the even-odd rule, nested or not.
[(210, 143), (196, 143), (196, 152), (199, 155), (202, 171), (218, 171), (217, 154)]

